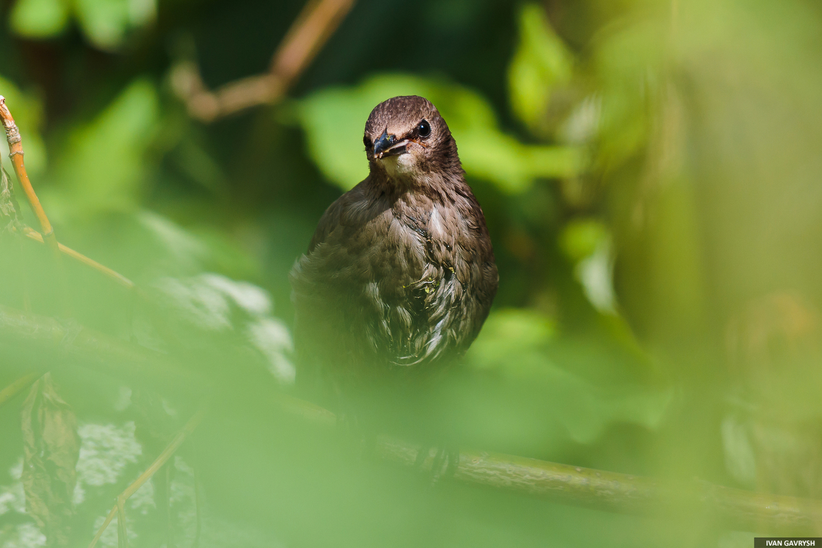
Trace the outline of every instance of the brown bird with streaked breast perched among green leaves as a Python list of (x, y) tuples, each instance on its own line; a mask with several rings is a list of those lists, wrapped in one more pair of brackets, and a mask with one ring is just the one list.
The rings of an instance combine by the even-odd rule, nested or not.
[[(336, 411), (385, 417), (418, 406), (399, 394), (464, 355), (499, 276), (456, 142), (429, 100), (377, 104), (363, 144), (368, 176), (326, 209), (289, 273), (293, 338), (298, 386)], [(363, 400), (383, 407), (351, 411)]]

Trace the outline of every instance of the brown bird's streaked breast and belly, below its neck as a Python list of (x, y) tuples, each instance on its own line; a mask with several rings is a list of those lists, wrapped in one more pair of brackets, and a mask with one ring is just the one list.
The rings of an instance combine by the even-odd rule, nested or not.
[(339, 332), (337, 353), (352, 363), (422, 367), (459, 355), (487, 315), (486, 286), (496, 289), (481, 211), (358, 192), (295, 267), (301, 325)]

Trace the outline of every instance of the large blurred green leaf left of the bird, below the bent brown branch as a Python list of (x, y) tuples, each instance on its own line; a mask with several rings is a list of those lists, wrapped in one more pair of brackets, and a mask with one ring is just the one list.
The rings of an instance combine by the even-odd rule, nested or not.
[(155, 87), (143, 79), (113, 100), (97, 118), (76, 128), (58, 160), (44, 195), (49, 214), (133, 211), (141, 197), (145, 151), (158, 118)]

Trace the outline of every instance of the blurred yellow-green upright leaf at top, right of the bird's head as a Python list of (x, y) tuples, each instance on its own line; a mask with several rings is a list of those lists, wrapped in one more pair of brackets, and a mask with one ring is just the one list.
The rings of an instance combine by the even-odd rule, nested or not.
[(570, 52), (547, 21), (543, 7), (525, 4), (520, 10), (520, 43), (508, 67), (511, 109), (529, 128), (540, 123), (551, 91), (570, 81)]

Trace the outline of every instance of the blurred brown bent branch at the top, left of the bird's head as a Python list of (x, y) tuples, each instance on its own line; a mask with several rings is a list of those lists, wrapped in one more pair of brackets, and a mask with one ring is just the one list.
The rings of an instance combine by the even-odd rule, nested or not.
[(330, 35), (343, 21), (354, 0), (312, 0), (294, 20), (289, 32), (271, 59), (270, 71), (229, 82), (210, 91), (202, 81), (196, 63), (179, 63), (172, 82), (188, 112), (203, 122), (236, 113), (258, 104), (273, 104), (312, 62)]

